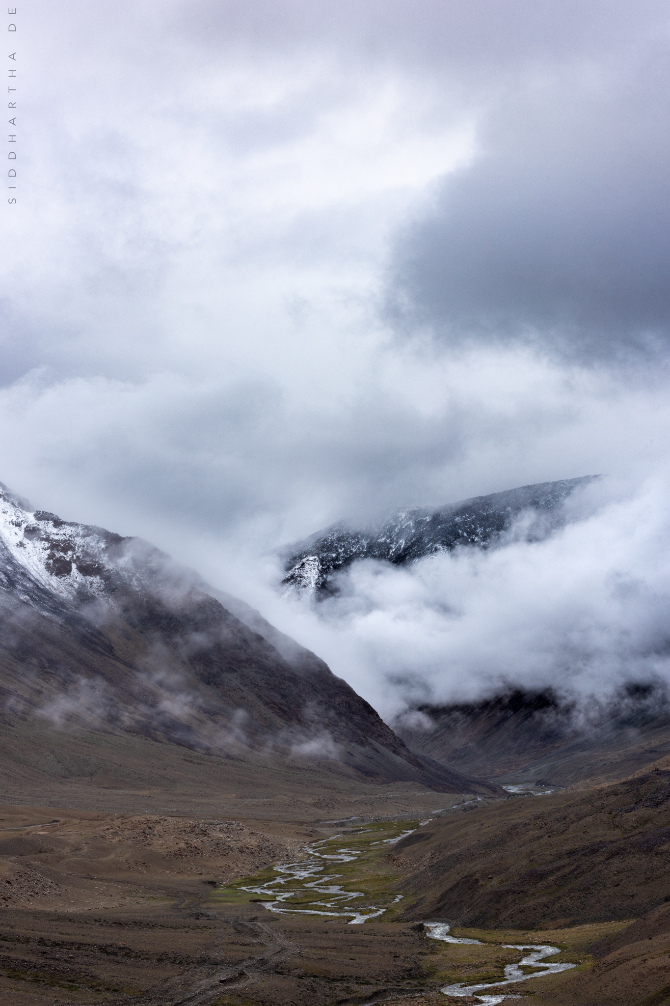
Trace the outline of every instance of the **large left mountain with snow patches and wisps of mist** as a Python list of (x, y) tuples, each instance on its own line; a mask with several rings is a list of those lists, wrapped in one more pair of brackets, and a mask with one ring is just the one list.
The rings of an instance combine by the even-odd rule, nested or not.
[[(497, 791), (409, 750), (318, 657), (148, 542), (33, 510), (4, 486), (0, 619), (0, 745), (16, 779), (103, 774), (114, 751), (115, 778), (142, 785), (151, 741), (154, 756), (177, 745), (252, 774), (302, 760)], [(119, 754), (131, 747), (132, 771)]]

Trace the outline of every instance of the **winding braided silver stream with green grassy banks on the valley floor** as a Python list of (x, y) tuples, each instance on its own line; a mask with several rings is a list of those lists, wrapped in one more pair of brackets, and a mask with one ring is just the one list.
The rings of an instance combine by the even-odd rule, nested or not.
[[(391, 837), (379, 838), (380, 832)], [(389, 828), (389, 825), (373, 825), (361, 828), (347, 835), (347, 844), (338, 845), (338, 840), (344, 835), (332, 835), (320, 839), (309, 846), (305, 859), (294, 863), (281, 863), (273, 866), (269, 875), (265, 875), (252, 883), (235, 884), (238, 891), (253, 894), (253, 900), (262, 901), (263, 907), (277, 914), (326, 915), (330, 918), (347, 918), (350, 926), (359, 926), (371, 918), (383, 915), (392, 905), (397, 904), (402, 894), (378, 891), (375, 894), (361, 890), (345, 890), (338, 880), (347, 882), (347, 864), (355, 862), (365, 852), (377, 845), (394, 845), (406, 835), (416, 830)], [(397, 831), (397, 834), (393, 832)], [(373, 840), (376, 839), (376, 840)], [(352, 877), (354, 879), (354, 877)], [(360, 881), (359, 881), (360, 882)], [(371, 903), (371, 900), (377, 903)], [(358, 903), (356, 903), (358, 902)], [(365, 903), (364, 903), (365, 902)], [(441, 940), (454, 944), (480, 944), (481, 940), (466, 940), (452, 937), (446, 923), (425, 923), (427, 936), (431, 940)], [(513, 995), (483, 994), (482, 991), (497, 990), (500, 986), (513, 982), (522, 982), (539, 975), (552, 974), (574, 968), (574, 964), (554, 964), (544, 962), (544, 958), (560, 954), (559, 947), (548, 944), (501, 944), (505, 948), (528, 951), (517, 964), (507, 964), (504, 969), (504, 979), (499, 982), (486, 982), (479, 985), (447, 985), (442, 992), (449, 996), (476, 996), (485, 1006), (495, 1006), (505, 998)], [(528, 974), (522, 968), (532, 968)]]

